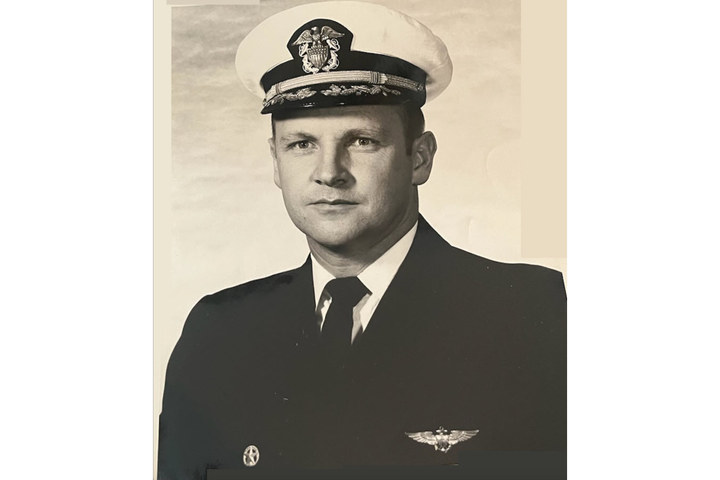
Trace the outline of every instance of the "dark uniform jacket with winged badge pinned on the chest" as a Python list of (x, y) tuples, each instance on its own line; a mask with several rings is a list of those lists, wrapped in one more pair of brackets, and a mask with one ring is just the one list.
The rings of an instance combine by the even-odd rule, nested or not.
[[(167, 369), (159, 478), (208, 468), (456, 463), (567, 448), (562, 275), (449, 245), (421, 217), (341, 366), (320, 355), (310, 259), (203, 298)], [(406, 432), (479, 430), (446, 453)]]

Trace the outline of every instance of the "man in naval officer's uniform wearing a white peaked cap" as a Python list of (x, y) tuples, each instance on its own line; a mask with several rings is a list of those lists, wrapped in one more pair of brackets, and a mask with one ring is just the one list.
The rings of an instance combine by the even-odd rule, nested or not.
[(564, 450), (561, 274), (454, 248), (418, 211), (437, 148), (420, 107), (452, 75), (442, 41), (379, 5), (304, 5), (256, 27), (236, 66), (272, 114), (274, 180), (310, 255), (192, 309), (160, 478)]

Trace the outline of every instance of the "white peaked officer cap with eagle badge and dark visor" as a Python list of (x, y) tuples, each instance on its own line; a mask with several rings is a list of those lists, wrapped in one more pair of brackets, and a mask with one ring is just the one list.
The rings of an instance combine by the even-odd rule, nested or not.
[(261, 113), (338, 105), (422, 106), (450, 83), (445, 44), (417, 20), (382, 5), (301, 5), (259, 24), (235, 67)]

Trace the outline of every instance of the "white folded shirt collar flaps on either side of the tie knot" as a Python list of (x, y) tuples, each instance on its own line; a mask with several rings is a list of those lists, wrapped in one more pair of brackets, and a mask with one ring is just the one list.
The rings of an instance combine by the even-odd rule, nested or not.
[[(417, 233), (417, 222), (413, 228), (410, 229), (395, 245), (390, 247), (388, 251), (382, 254), (380, 258), (375, 260), (373, 263), (368, 265), (363, 270), (358, 278), (363, 285), (370, 290), (373, 297), (377, 298), (378, 301), (385, 294), (385, 291), (390, 286), (395, 274), (397, 273), (400, 265), (410, 251), (412, 242), (415, 239), (415, 233)], [(311, 254), (312, 260), (312, 272), (313, 272), (313, 288), (315, 291), (315, 307), (317, 307), (320, 301), (325, 285), (334, 279), (335, 277), (325, 270), (325, 268), (315, 260), (315, 257)]]

